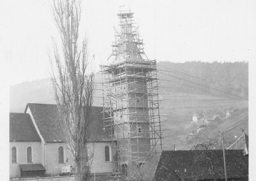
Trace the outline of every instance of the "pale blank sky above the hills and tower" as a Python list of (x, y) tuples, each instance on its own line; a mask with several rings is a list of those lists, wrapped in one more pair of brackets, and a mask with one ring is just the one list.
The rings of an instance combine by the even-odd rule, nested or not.
[[(58, 36), (49, 0), (4, 1), (0, 7), (1, 67), (10, 84), (49, 76), (47, 52)], [(90, 71), (111, 54), (116, 13), (132, 10), (149, 59), (255, 60), (255, 1), (83, 1), (81, 35), (89, 40)], [(118, 29), (118, 27), (116, 27)], [(3, 53), (2, 53), (3, 51)]]

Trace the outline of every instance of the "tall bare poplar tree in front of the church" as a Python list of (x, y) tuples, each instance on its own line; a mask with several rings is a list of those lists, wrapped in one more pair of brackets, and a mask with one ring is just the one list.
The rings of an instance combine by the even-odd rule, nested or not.
[(93, 74), (86, 75), (88, 65), (87, 40), (78, 44), (81, 2), (53, 0), (54, 20), (61, 38), (61, 48), (54, 43), (52, 85), (60, 119), (63, 121), (70, 150), (76, 164), (76, 180), (90, 177), (87, 143), (90, 137), (91, 106), (93, 102)]

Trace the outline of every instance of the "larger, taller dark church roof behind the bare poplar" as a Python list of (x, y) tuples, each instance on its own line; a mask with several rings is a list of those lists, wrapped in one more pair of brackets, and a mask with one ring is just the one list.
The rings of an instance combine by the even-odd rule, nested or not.
[[(45, 142), (66, 141), (63, 122), (58, 119), (58, 108), (56, 105), (28, 103), (25, 112), (31, 110), (36, 126)], [(92, 107), (92, 135), (90, 141), (111, 141), (108, 134), (103, 130), (102, 107)]]

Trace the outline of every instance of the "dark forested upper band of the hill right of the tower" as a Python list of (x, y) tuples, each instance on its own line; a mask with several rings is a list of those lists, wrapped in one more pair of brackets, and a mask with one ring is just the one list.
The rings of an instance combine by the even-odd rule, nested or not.
[(172, 87), (163, 92), (248, 99), (248, 62), (159, 62), (157, 69), (160, 86)]

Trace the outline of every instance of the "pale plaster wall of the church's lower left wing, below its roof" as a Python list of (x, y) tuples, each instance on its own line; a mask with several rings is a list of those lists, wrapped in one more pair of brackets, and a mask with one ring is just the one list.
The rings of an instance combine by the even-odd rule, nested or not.
[[(12, 163), (12, 147), (16, 147), (17, 163)], [(27, 163), (27, 148), (32, 148), (33, 163), (41, 163), (41, 143), (39, 141), (10, 142), (10, 178), (20, 177), (19, 164)], [(44, 165), (44, 164), (43, 164)]]

